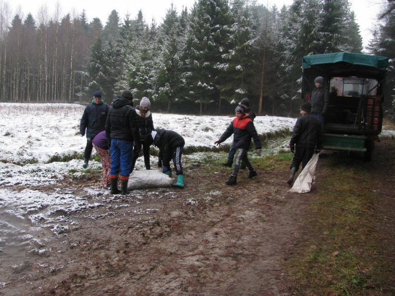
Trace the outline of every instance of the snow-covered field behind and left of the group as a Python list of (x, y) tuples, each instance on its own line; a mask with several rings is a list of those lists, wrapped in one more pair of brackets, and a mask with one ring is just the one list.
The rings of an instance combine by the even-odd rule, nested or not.
[[(10, 233), (15, 235), (15, 241), (30, 244), (32, 251), (40, 246), (38, 239), (27, 237), (17, 225), (49, 227), (53, 233), (60, 234), (74, 223), (69, 220), (69, 213), (105, 207), (113, 200), (100, 186), (82, 188), (78, 196), (75, 188), (57, 187), (66, 176), (84, 177), (82, 160), (73, 159), (83, 153), (86, 144), (86, 138), (79, 134), (84, 108), (78, 104), (0, 103), (0, 251)], [(181, 134), (186, 147), (210, 148), (232, 118), (154, 113), (153, 120), (155, 127)], [(258, 116), (255, 119), (258, 134), (291, 129), (294, 123), (293, 118)], [(53, 161), (67, 156), (72, 160)], [(151, 160), (154, 162), (154, 157)], [(101, 164), (91, 161), (89, 168), (99, 170)], [(142, 157), (136, 168), (143, 168)], [(134, 202), (144, 193), (134, 191)]]

